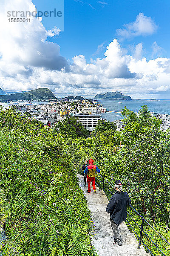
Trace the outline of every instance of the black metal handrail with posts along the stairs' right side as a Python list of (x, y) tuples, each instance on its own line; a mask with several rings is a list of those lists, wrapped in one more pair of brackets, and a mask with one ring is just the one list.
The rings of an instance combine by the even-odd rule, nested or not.
[[(97, 173), (96, 172), (96, 174), (97, 175), (99, 175), (99, 173)], [(96, 180), (99, 180), (99, 182), (100, 183), (102, 183), (102, 186), (99, 186), (99, 184), (96, 182), (96, 184), (97, 184), (97, 186), (99, 186), (101, 189), (102, 189), (102, 194), (104, 195), (104, 192), (105, 192), (105, 194), (106, 195), (108, 195), (108, 193), (105, 191), (105, 189), (104, 188), (106, 188), (106, 189), (108, 189), (108, 187), (105, 185), (105, 182), (106, 183), (108, 183), (112, 188), (113, 188), (113, 190), (116, 190), (115, 189), (115, 187), (113, 187), (112, 185), (111, 185), (111, 183), (109, 183), (108, 182), (108, 180), (106, 180), (105, 179), (105, 177), (103, 177), (102, 175), (99, 175), (101, 178), (102, 178), (102, 181), (101, 180), (99, 180), (97, 177), (96, 177)], [(111, 191), (110, 191), (110, 189), (108, 189), (108, 191), (111, 193)], [(112, 194), (112, 193), (111, 193)], [(109, 195), (108, 195), (108, 198), (111, 198)], [(142, 234), (144, 233), (146, 236), (147, 236), (147, 238), (150, 240), (150, 241), (152, 241), (152, 243), (156, 246), (156, 248), (157, 249), (159, 249), (160, 251), (161, 251), (161, 253), (164, 255), (164, 256), (166, 256), (163, 252), (162, 252), (162, 250), (153, 242), (153, 240), (147, 235), (147, 233), (143, 230), (143, 227), (144, 227), (144, 222), (145, 223), (147, 223), (168, 245), (170, 245), (170, 243), (166, 240), (166, 239), (164, 239), (164, 237), (152, 226), (152, 225), (150, 225), (150, 223), (142, 216), (142, 215), (140, 215), (140, 213), (139, 212), (137, 212), (136, 211), (136, 209), (134, 209), (131, 205), (130, 205), (130, 207), (139, 215), (139, 217), (140, 218), (142, 218), (142, 222), (141, 222), (141, 225), (139, 225), (134, 219), (133, 219), (133, 217), (127, 212), (127, 214), (130, 216), (130, 218), (136, 223), (136, 225), (140, 228), (140, 235), (138, 235), (137, 233), (136, 233), (136, 231), (133, 229), (133, 227), (130, 225), (130, 223), (129, 223), (129, 221), (127, 221), (127, 223), (129, 224), (129, 226), (131, 227), (131, 229), (133, 230), (133, 232), (136, 234), (136, 236), (138, 237), (138, 239), (139, 239), (139, 244), (138, 244), (138, 249), (140, 249), (141, 248), (141, 243), (147, 248), (147, 250), (151, 253), (151, 255), (152, 256), (154, 256), (153, 255), (153, 253), (150, 251), (150, 249), (144, 244), (144, 242), (142, 241)]]

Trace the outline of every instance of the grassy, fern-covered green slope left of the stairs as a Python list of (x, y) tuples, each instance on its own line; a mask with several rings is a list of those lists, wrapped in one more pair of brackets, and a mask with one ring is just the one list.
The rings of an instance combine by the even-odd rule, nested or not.
[(61, 134), (15, 109), (0, 112), (4, 256), (95, 256), (91, 218)]

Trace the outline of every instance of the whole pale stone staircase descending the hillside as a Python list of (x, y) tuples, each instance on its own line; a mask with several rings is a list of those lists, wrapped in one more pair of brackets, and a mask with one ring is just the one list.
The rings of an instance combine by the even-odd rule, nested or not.
[(78, 176), (79, 185), (85, 192), (94, 225), (91, 244), (98, 250), (99, 256), (150, 256), (150, 253), (146, 253), (142, 245), (141, 249), (138, 249), (138, 241), (135, 235), (130, 233), (125, 222), (122, 222), (119, 226), (122, 246), (117, 243), (113, 245), (110, 215), (106, 212), (108, 204), (106, 195), (102, 195), (102, 190), (97, 187), (96, 193), (94, 193), (93, 188), (91, 188), (91, 193), (87, 193), (87, 186), (83, 186), (83, 177)]

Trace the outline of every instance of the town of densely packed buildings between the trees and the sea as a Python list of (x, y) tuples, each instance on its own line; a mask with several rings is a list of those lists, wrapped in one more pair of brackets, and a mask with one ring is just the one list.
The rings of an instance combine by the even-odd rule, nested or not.
[(90, 133), (96, 128), (99, 120), (105, 120), (100, 113), (106, 112), (106, 108), (92, 99), (57, 100), (36, 105), (32, 102), (11, 102), (9, 105), (15, 106), (17, 112), (25, 114), (28, 118), (43, 122), (48, 128), (54, 128), (56, 123), (64, 120), (66, 116), (75, 116)]

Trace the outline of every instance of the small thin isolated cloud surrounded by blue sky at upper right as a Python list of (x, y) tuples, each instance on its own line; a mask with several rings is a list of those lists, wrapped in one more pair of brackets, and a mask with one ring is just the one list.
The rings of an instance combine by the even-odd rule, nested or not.
[(153, 35), (158, 28), (151, 17), (144, 16), (143, 13), (139, 13), (135, 21), (124, 24), (124, 27), (124, 29), (116, 29), (116, 33), (121, 39)]

